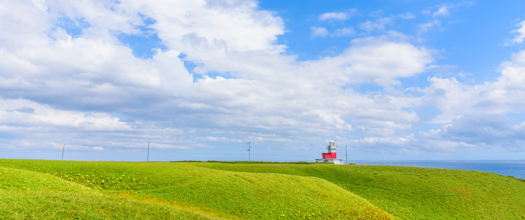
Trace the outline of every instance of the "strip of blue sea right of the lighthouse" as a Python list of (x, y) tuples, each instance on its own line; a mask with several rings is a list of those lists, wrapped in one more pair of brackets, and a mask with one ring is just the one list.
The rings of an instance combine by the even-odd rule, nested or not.
[(358, 165), (415, 166), (455, 170), (475, 170), (525, 179), (525, 160), (432, 160), (432, 161), (349, 161)]

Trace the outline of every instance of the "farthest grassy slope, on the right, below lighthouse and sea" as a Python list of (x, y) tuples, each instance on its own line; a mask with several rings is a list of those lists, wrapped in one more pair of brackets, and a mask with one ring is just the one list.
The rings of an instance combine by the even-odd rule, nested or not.
[(193, 165), (316, 176), (366, 198), (396, 219), (525, 219), (525, 183), (494, 173), (365, 165)]

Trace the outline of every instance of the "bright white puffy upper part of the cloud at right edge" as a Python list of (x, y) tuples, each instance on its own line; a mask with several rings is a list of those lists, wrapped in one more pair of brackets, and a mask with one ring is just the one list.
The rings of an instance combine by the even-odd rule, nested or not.
[(482, 85), (468, 86), (455, 78), (429, 78), (432, 85), (422, 90), (427, 94), (424, 97), (451, 115), (469, 112), (469, 109), (495, 114), (525, 108), (518, 101), (521, 97), (525, 98), (522, 94), (525, 90), (525, 51), (513, 54), (511, 58), (510, 62), (502, 63), (501, 76), (497, 81)]

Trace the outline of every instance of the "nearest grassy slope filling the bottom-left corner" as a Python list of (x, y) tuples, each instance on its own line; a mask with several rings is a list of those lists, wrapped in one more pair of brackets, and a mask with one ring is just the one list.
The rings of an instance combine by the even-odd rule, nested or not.
[(110, 197), (48, 174), (0, 167), (0, 219), (212, 218), (170, 206)]

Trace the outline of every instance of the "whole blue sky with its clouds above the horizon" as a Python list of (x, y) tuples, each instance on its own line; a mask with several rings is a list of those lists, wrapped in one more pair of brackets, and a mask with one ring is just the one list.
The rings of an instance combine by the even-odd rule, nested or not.
[(525, 160), (523, 8), (3, 0), (0, 158)]

